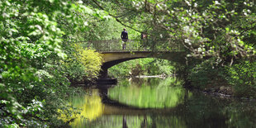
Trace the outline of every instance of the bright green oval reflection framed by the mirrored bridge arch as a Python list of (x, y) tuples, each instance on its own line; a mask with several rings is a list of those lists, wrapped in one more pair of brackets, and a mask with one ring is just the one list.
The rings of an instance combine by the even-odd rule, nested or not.
[(108, 97), (111, 100), (139, 108), (175, 107), (184, 102), (185, 94), (186, 90), (178, 87), (137, 87), (130, 85), (128, 87), (116, 86), (108, 90)]

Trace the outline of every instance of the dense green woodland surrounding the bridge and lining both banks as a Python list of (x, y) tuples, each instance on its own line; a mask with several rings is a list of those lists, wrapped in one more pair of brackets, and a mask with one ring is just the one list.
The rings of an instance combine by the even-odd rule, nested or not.
[[(1, 0), (0, 127), (62, 126), (72, 83), (97, 78), (102, 58), (75, 40), (130, 39), (183, 44), (187, 65), (133, 60), (113, 76), (183, 73), (187, 86), (256, 98), (254, 0)], [(135, 63), (134, 63), (135, 62)], [(119, 66), (119, 67), (118, 67)], [(152, 69), (148, 71), (148, 69)], [(138, 72), (139, 71), (139, 72)], [(223, 89), (224, 88), (224, 89)], [(83, 91), (82, 91), (83, 92)]]

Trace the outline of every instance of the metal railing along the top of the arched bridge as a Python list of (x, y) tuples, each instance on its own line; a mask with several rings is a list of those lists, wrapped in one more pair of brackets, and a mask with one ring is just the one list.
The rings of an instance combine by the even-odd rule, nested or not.
[[(172, 40), (91, 40), (77, 41), (84, 48), (97, 50), (98, 52), (126, 52), (126, 51), (181, 51), (184, 50), (181, 43)], [(126, 45), (124, 47), (124, 45)]]

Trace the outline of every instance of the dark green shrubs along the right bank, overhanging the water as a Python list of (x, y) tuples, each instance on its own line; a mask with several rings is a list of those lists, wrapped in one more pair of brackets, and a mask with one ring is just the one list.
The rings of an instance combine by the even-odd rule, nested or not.
[(213, 62), (208, 59), (189, 70), (187, 81), (192, 88), (256, 98), (256, 62), (239, 60), (231, 66), (217, 66)]

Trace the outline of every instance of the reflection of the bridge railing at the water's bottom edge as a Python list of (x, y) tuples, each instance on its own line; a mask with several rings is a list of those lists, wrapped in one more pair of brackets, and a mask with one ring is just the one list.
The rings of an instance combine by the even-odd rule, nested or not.
[(84, 123), (84, 127), (115, 127), (115, 128), (166, 128), (183, 127), (185, 121), (177, 116), (101, 116), (95, 121)]

